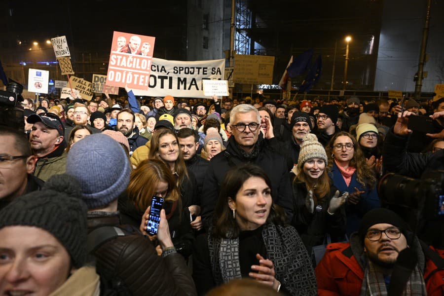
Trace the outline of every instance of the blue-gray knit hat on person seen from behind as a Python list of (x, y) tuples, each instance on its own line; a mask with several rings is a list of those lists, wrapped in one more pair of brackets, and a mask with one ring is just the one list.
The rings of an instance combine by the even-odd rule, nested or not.
[(82, 199), (88, 209), (99, 209), (110, 204), (126, 189), (131, 166), (125, 150), (117, 141), (108, 135), (93, 134), (71, 147), (66, 173), (80, 183)]

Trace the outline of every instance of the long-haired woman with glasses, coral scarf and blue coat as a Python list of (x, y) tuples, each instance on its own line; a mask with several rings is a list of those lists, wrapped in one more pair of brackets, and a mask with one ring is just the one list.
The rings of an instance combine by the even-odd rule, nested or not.
[(349, 196), (345, 207), (347, 235), (358, 230), (361, 218), (380, 207), (375, 172), (367, 164), (356, 139), (347, 132), (333, 136), (326, 149), (329, 175), (333, 185)]

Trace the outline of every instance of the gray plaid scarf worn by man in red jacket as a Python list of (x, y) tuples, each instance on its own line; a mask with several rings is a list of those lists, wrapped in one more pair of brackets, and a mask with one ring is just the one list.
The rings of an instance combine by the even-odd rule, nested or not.
[[(387, 288), (384, 282), (384, 275), (378, 271), (369, 260), (364, 272), (364, 280), (361, 286), (361, 296), (387, 296)], [(415, 266), (410, 278), (407, 281), (406, 289), (403, 292), (406, 296), (427, 295), (424, 278), (418, 265)]]

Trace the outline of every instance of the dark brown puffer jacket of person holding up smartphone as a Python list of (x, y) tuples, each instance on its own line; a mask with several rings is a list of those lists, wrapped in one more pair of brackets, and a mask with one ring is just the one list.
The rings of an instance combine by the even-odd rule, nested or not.
[(88, 232), (101, 226), (118, 226), (128, 234), (105, 242), (93, 254), (107, 290), (114, 295), (197, 295), (179, 253), (157, 256), (148, 237), (135, 227), (121, 225), (116, 212), (88, 213)]

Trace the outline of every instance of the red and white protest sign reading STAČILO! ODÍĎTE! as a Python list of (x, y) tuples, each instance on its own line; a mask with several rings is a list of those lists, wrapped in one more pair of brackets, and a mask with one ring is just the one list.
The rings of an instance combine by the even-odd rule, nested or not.
[(148, 89), (155, 37), (114, 31), (107, 84)]

